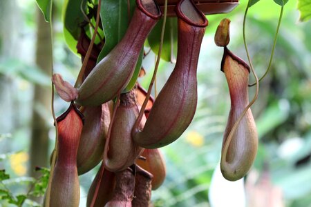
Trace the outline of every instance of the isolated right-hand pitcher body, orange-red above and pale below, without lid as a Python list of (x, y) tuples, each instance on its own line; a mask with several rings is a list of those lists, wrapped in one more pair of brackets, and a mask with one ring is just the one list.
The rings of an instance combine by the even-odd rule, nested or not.
[(227, 139), (234, 124), (249, 104), (249, 66), (225, 47), (221, 70), (225, 73), (229, 86), (231, 109), (223, 136), (220, 169), (225, 179), (236, 181), (247, 174), (258, 148), (256, 123), (250, 108), (238, 124), (232, 139)]

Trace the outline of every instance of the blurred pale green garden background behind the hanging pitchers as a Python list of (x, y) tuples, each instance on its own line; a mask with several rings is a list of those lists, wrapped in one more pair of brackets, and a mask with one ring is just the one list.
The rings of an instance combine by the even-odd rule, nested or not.
[[(238, 199), (245, 197), (246, 206), (252, 207), (311, 206), (311, 21), (299, 22), (296, 4), (290, 0), (285, 6), (272, 70), (261, 82), (258, 100), (252, 106), (260, 144), (244, 184), (228, 184), (217, 179), (217, 173), (213, 182), (211, 178), (220, 159), (230, 107), (227, 82), (220, 72), (223, 48), (216, 47), (214, 33), (221, 19), (231, 19), (228, 48), (246, 60), (242, 38), (246, 2), (242, 1), (230, 14), (207, 16), (209, 26), (198, 63), (198, 108), (182, 137), (161, 149), (167, 178), (152, 193), (154, 206), (226, 206), (218, 203), (215, 193), (220, 200), (230, 201), (231, 206), (241, 206)], [(35, 166), (39, 163), (48, 167), (55, 144), (50, 61), (54, 62), (55, 72), (70, 83), (75, 82), (81, 67), (79, 57), (64, 41), (62, 1), (55, 0), (53, 6), (52, 60), (50, 27), (35, 0), (0, 1), (0, 170), (6, 169), (10, 175), (10, 179), (0, 178), (0, 189), (5, 186), (13, 196), (28, 192), (33, 177), (38, 176)], [(249, 10), (246, 37), (259, 77), (267, 68), (280, 9), (271, 0), (261, 0)], [(145, 88), (154, 62), (151, 52), (143, 62), (147, 75), (140, 79)], [(173, 66), (160, 63), (158, 90)], [(249, 88), (249, 97), (253, 95), (254, 88)], [(56, 115), (66, 108), (68, 103), (55, 97)], [(80, 206), (86, 204), (88, 187), (97, 170), (98, 166), (80, 177)], [(209, 192), (214, 194), (208, 196)], [(23, 204), (35, 205), (30, 200)], [(0, 201), (0, 206), (10, 205)]]

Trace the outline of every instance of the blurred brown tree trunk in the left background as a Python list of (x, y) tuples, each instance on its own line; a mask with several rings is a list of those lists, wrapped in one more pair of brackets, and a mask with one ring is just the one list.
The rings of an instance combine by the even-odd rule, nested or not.
[[(52, 67), (50, 25), (37, 9), (37, 46), (36, 63), (46, 74), (50, 74)], [(49, 126), (42, 110), (50, 111), (51, 89), (46, 86), (35, 85), (32, 106), (32, 137), (30, 144), (30, 175), (36, 176), (35, 166), (48, 166), (48, 131)]]

